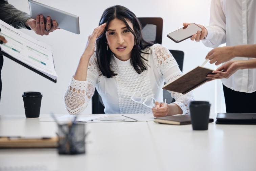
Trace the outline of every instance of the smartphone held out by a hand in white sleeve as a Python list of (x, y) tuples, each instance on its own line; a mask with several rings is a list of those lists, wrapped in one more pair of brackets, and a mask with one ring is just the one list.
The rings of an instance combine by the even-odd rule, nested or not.
[(197, 32), (197, 30), (200, 30), (202, 32), (201, 27), (199, 27), (195, 23), (191, 23), (186, 27), (180, 28), (179, 30), (167, 34), (167, 37), (176, 43), (180, 43), (188, 38), (191, 38), (193, 34)]

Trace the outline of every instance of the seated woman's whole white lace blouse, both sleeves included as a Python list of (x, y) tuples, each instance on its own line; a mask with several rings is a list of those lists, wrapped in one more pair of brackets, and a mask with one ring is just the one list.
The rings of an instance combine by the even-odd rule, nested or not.
[[(147, 51), (149, 50), (149, 51)], [(111, 59), (112, 71), (117, 73), (113, 78), (100, 75), (96, 53), (89, 62), (87, 80), (78, 81), (72, 76), (68, 89), (64, 95), (66, 110), (71, 115), (78, 115), (84, 111), (88, 102), (94, 94), (95, 88), (102, 98), (106, 114), (139, 114), (152, 113), (151, 108), (141, 103), (134, 102), (131, 97), (134, 92), (139, 91), (143, 97), (154, 94), (158, 102), (163, 102), (163, 84), (168, 83), (182, 75), (176, 60), (169, 50), (159, 44), (146, 48), (149, 54), (142, 54), (148, 61), (147, 70), (138, 74), (130, 63), (121, 61), (114, 55)], [(182, 95), (171, 92), (177, 105), (183, 114), (190, 114), (189, 103), (194, 101), (192, 92)]]

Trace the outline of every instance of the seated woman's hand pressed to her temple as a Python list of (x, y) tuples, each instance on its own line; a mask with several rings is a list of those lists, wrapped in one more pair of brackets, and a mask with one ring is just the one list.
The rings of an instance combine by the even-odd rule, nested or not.
[(89, 35), (84, 55), (86, 55), (89, 58), (93, 55), (96, 39), (104, 32), (105, 27), (106, 23), (101, 24), (93, 30), (91, 35)]

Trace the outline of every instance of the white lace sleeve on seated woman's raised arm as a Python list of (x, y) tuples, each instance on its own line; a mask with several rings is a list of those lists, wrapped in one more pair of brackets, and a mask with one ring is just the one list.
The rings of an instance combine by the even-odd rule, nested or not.
[(64, 95), (66, 111), (70, 115), (78, 115), (83, 112), (94, 94), (98, 79), (95, 56), (94, 54), (90, 58), (86, 81), (78, 81), (75, 80), (73, 76), (71, 77), (70, 84)]

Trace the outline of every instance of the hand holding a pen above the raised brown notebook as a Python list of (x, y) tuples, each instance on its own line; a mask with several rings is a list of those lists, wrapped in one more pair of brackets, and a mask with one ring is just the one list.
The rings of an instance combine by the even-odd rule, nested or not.
[(214, 64), (216, 62), (215, 65), (219, 65), (233, 59), (235, 57), (233, 55), (233, 51), (233, 46), (217, 47), (212, 49), (206, 55), (205, 59), (209, 58), (210, 64)]

